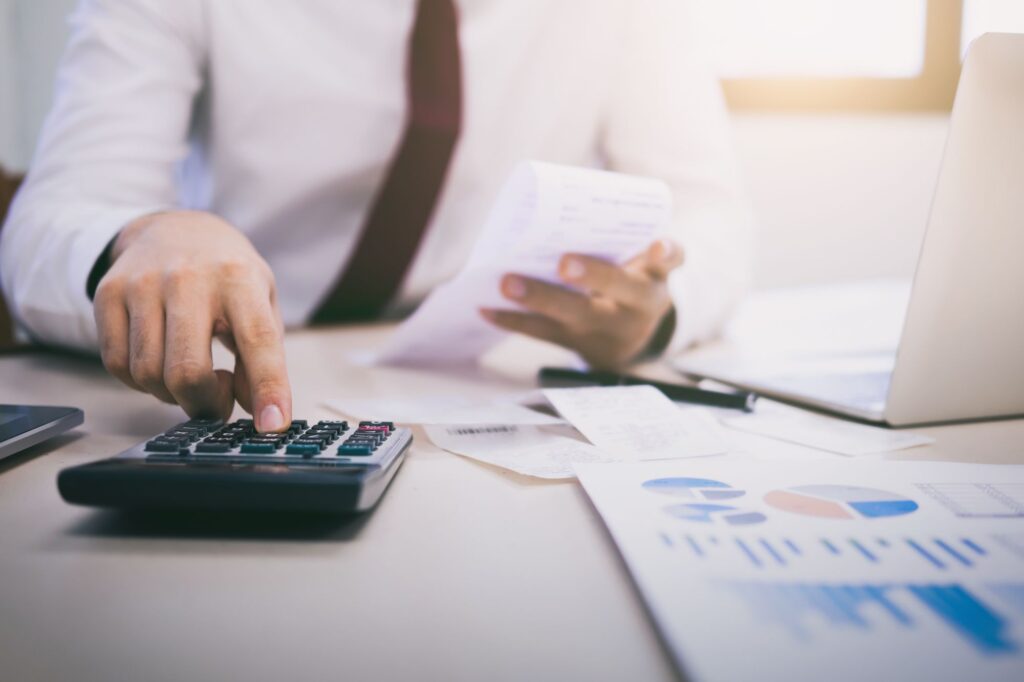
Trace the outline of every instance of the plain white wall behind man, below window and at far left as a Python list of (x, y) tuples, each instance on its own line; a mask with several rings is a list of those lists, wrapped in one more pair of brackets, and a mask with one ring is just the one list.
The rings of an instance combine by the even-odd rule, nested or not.
[[(9, 168), (31, 160), (75, 2), (0, 0), (0, 163)], [(735, 116), (762, 226), (757, 286), (909, 275), (945, 128), (945, 117), (928, 115)]]

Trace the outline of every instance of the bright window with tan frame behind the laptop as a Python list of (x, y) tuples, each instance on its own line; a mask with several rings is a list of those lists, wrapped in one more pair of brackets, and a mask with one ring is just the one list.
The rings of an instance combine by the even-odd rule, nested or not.
[(700, 0), (730, 106), (947, 111), (968, 43), (1022, 0)]

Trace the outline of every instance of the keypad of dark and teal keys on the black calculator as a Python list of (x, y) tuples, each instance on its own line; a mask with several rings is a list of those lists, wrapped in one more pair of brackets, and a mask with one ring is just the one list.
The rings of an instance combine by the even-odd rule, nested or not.
[(251, 419), (228, 424), (196, 419), (168, 429), (142, 450), (155, 462), (351, 465), (378, 460), (394, 431), (391, 422), (359, 422), (352, 429), (344, 421), (310, 426), (297, 419), (283, 433), (259, 433)]

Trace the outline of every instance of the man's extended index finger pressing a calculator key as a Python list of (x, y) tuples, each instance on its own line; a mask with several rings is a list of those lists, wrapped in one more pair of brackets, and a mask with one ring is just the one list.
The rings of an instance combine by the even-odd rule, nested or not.
[(245, 363), (257, 430), (284, 431), (292, 423), (292, 389), (281, 317), (269, 292), (232, 287), (225, 294), (224, 314)]

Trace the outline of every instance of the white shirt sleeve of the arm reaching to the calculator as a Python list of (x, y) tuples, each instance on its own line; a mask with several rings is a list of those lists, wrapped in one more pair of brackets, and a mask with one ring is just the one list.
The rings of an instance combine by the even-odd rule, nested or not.
[(204, 62), (190, 0), (82, 0), (53, 110), (2, 232), (0, 276), (34, 338), (96, 348), (89, 273), (127, 223), (177, 202)]

